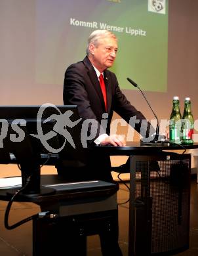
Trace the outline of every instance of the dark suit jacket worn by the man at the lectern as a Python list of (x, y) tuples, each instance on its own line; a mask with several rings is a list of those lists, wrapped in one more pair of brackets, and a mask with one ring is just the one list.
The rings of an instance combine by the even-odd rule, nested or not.
[[(142, 119), (146, 119), (141, 112), (136, 110), (136, 108), (130, 104), (125, 95), (123, 95), (113, 72), (105, 70), (104, 81), (106, 83), (108, 104), (107, 127), (104, 127), (105, 125), (102, 125), (101, 123), (102, 114), (106, 112), (106, 109), (102, 91), (100, 89), (100, 83), (89, 58), (86, 56), (83, 61), (72, 64), (68, 67), (65, 74), (64, 104), (77, 105), (79, 116), (83, 118), (83, 120), (95, 120), (92, 127), (90, 127), (95, 134), (94, 137), (92, 137), (92, 140), (88, 141), (89, 144), (93, 143), (98, 135), (102, 133), (109, 134), (113, 111), (117, 112), (117, 114), (123, 117), (127, 122), (129, 122), (130, 117), (133, 116), (136, 116), (136, 119), (140, 119), (140, 123), (136, 124), (134, 127), (138, 132), (140, 132)], [(149, 132), (149, 125), (147, 132)], [(102, 159), (102, 161), (97, 160), (97, 156), (88, 157), (89, 163), (92, 161), (90, 166), (94, 165), (94, 169), (98, 167), (99, 172), (101, 172), (101, 169), (104, 170), (104, 167), (108, 168), (110, 165), (107, 156), (100, 157), (100, 159)]]

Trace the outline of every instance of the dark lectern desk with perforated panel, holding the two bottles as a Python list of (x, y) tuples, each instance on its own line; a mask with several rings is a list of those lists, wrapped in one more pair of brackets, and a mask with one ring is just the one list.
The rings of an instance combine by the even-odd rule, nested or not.
[(94, 148), (130, 157), (129, 256), (174, 255), (189, 248), (191, 154), (182, 153), (192, 148), (198, 144)]

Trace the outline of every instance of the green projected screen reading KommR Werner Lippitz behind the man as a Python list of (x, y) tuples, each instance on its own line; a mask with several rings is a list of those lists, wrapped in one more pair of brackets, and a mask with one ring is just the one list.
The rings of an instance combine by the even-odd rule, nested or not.
[(37, 0), (36, 81), (62, 86), (64, 72), (86, 54), (87, 37), (108, 29), (118, 37), (114, 66), (122, 89), (130, 77), (146, 91), (167, 91), (168, 1)]

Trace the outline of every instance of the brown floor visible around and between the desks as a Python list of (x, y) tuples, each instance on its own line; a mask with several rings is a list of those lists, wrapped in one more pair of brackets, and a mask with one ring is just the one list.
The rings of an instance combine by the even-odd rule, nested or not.
[[(119, 244), (123, 255), (128, 255), (128, 223), (129, 223), (129, 190), (124, 184), (120, 184), (118, 192), (119, 204)], [(4, 214), (7, 202), (0, 201), (0, 255), (2, 256), (31, 256), (31, 222), (22, 224), (14, 230), (6, 230), (4, 227)], [(15, 223), (39, 211), (39, 207), (33, 203), (13, 203), (9, 223)], [(191, 179), (191, 214), (190, 214), (190, 238), (189, 249), (177, 255), (198, 255), (198, 184), (196, 179)], [(89, 236), (87, 239), (87, 255), (100, 256), (100, 240), (98, 236)], [(67, 255), (67, 253), (66, 253)], [(43, 255), (45, 256), (45, 255)], [(54, 255), (58, 256), (58, 255)], [(110, 255), (109, 255), (110, 256)]]

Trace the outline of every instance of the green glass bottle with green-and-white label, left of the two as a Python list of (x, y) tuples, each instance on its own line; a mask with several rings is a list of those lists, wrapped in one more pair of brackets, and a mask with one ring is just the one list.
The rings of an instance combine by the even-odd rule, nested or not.
[(170, 114), (169, 123), (169, 139), (170, 142), (180, 144), (181, 143), (181, 126), (182, 115), (180, 113), (180, 99), (178, 96), (174, 96), (172, 100), (172, 112)]

